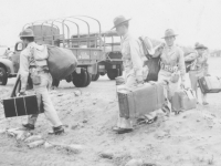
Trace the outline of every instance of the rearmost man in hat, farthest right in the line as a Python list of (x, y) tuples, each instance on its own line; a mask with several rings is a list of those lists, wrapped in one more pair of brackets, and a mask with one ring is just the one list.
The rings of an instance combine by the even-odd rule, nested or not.
[[(198, 93), (197, 93), (197, 87), (198, 87), (198, 80), (202, 76), (207, 76), (208, 74), (208, 53), (206, 50), (208, 49), (203, 44), (196, 43), (197, 51), (194, 53), (191, 53), (187, 55), (185, 59), (186, 61), (192, 61), (190, 65), (190, 82), (191, 82), (191, 87), (196, 93), (196, 97), (198, 98)], [(202, 105), (208, 105), (209, 103), (207, 102), (207, 94), (202, 93)]]

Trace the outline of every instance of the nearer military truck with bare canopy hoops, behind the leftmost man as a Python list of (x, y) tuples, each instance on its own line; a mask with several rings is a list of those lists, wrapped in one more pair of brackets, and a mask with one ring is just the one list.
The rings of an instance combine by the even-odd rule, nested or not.
[[(91, 35), (92, 22), (98, 24), (98, 35)], [(82, 28), (83, 24), (86, 27)], [(65, 77), (65, 80), (66, 82), (73, 82), (76, 87), (88, 86), (92, 81), (92, 75), (97, 74), (97, 64), (105, 60), (105, 54), (101, 49), (101, 23), (94, 18), (76, 15), (54, 20), (43, 20), (27, 23), (22, 30), (24, 29), (33, 30), (35, 35), (34, 40), (38, 44), (50, 44), (72, 50), (74, 55), (76, 55), (78, 64), (76, 71)], [(73, 30), (77, 33), (76, 38), (71, 38)], [(86, 30), (87, 35), (82, 37), (80, 30)], [(14, 49), (15, 54), (20, 54), (23, 49), (24, 48), (20, 46), (20, 42), (18, 42)], [(59, 83), (60, 80), (53, 79), (54, 86), (59, 86)]]

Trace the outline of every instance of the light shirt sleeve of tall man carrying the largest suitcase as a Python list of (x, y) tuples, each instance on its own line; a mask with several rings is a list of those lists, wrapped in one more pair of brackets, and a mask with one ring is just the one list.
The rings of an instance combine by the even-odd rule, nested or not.
[(130, 48), (130, 56), (133, 62), (133, 69), (135, 71), (136, 76), (143, 76), (143, 65), (144, 62), (140, 56), (140, 48), (136, 40), (129, 41), (129, 48)]

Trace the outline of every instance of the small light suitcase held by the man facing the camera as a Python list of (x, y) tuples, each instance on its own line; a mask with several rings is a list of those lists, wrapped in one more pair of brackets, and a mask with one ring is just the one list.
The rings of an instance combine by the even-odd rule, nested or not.
[(172, 111), (188, 111), (197, 107), (197, 98), (193, 96), (192, 90), (182, 90), (175, 92), (171, 101)]

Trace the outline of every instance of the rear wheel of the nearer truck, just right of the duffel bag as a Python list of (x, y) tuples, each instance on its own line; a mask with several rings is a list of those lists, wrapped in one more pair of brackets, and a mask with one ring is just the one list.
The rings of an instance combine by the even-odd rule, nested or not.
[(84, 87), (87, 83), (87, 72), (85, 71), (85, 69), (81, 69), (80, 74), (74, 72), (72, 82), (76, 87)]

